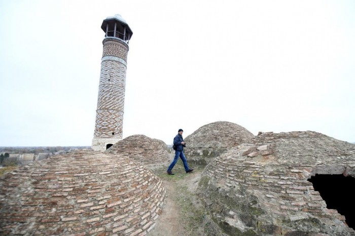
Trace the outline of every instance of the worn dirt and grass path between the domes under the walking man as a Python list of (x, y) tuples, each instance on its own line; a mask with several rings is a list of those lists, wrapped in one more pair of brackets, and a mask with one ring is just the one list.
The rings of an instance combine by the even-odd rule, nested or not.
[(162, 180), (166, 198), (155, 227), (147, 235), (226, 236), (211, 219), (196, 191), (204, 167), (189, 165), (194, 171), (186, 174), (179, 160), (172, 170), (175, 174), (167, 175), (166, 170), (172, 159), (173, 153), (166, 164), (148, 167)]

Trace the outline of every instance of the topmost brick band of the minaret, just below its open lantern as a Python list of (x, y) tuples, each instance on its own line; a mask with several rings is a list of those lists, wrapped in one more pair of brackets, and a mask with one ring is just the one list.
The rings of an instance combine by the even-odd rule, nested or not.
[(105, 38), (102, 43), (103, 43), (102, 57), (116, 56), (127, 61), (128, 46), (125, 43), (119, 40), (115, 40), (114, 38)]

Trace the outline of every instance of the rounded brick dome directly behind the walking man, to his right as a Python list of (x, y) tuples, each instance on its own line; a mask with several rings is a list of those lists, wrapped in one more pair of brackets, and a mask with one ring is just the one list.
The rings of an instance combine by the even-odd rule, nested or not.
[(231, 122), (214, 122), (204, 125), (184, 140), (184, 148), (189, 161), (207, 164), (230, 148), (250, 140), (254, 135), (237, 124)]

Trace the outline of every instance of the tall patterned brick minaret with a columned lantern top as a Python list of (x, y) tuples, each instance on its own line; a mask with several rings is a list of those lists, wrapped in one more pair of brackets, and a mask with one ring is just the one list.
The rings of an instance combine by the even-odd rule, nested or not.
[(102, 41), (96, 122), (91, 145), (97, 151), (104, 151), (122, 140), (128, 42), (133, 34), (118, 14), (103, 20), (101, 29), (105, 38)]

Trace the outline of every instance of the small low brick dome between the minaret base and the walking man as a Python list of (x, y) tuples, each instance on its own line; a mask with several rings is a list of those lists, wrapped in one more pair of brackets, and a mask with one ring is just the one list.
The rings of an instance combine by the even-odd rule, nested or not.
[(105, 152), (128, 156), (135, 162), (147, 167), (150, 165), (165, 165), (170, 159), (170, 155), (162, 143), (164, 142), (161, 140), (136, 134), (118, 141)]

